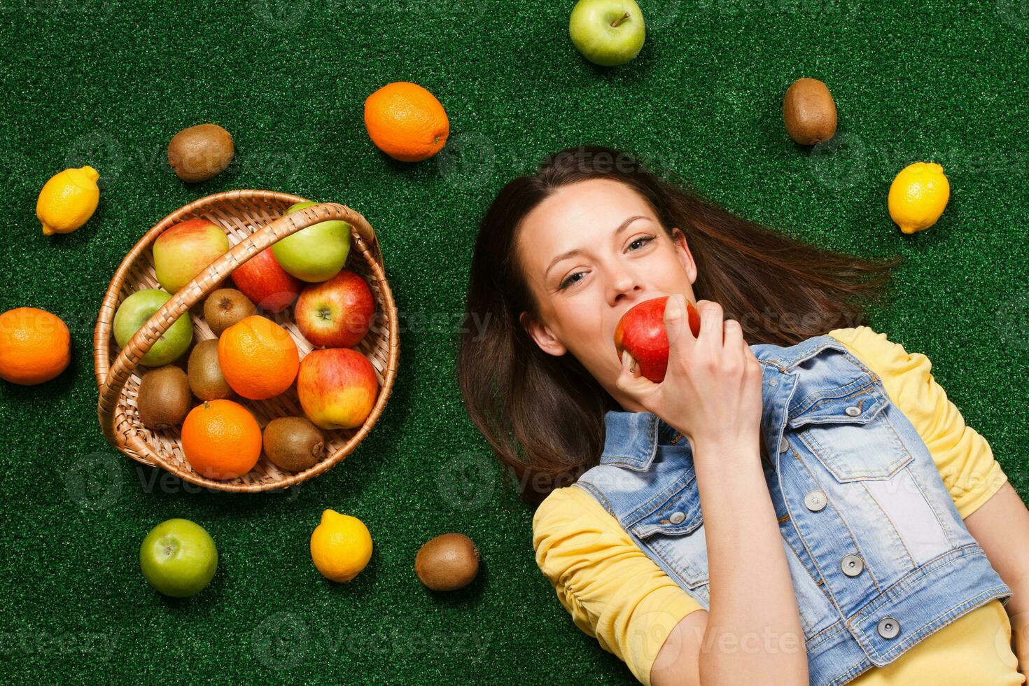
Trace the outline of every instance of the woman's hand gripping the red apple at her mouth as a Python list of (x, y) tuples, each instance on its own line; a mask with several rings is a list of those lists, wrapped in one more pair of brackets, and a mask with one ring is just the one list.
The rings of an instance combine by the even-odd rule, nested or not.
[[(668, 370), (660, 384), (641, 375), (628, 352), (615, 387), (698, 443), (726, 441), (757, 447), (761, 420), (761, 367), (743, 339), (740, 323), (722, 321), (721, 305), (699, 300), (700, 334), (686, 322), (686, 300), (671, 295), (665, 306)], [(756, 455), (756, 449), (755, 453)]]

